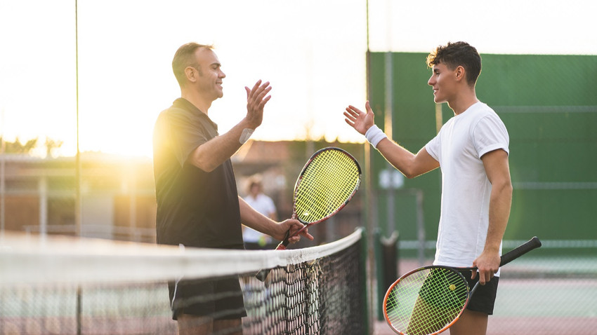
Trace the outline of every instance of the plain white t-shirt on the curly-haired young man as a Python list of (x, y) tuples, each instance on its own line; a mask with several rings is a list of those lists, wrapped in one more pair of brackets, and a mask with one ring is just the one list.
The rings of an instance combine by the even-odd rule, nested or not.
[[(481, 156), (509, 153), (509, 136), (499, 116), (477, 102), (442, 126), (426, 144), (442, 171), (442, 201), (435, 265), (472, 266), (483, 252), (489, 227), (491, 183)], [(499, 246), (501, 253), (501, 245)], [(499, 273), (497, 273), (499, 275)]]

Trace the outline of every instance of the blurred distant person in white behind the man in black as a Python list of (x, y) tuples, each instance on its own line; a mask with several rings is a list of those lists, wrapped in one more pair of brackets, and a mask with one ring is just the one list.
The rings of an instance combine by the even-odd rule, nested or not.
[[(253, 207), (257, 212), (277, 221), (276, 206), (274, 201), (269, 196), (263, 193), (263, 183), (261, 178), (254, 176), (249, 179), (248, 194), (244, 200)], [(245, 249), (274, 249), (275, 245), (272, 243), (272, 238), (263, 233), (259, 233), (249, 227), (243, 227), (242, 239), (244, 240)]]

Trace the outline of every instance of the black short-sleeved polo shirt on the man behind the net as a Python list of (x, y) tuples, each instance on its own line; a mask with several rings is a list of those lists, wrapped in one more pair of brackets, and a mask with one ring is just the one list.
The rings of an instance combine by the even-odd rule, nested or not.
[(159, 244), (242, 245), (240, 209), (230, 159), (214, 171), (187, 163), (189, 154), (218, 136), (218, 126), (179, 98), (157, 118), (153, 165)]

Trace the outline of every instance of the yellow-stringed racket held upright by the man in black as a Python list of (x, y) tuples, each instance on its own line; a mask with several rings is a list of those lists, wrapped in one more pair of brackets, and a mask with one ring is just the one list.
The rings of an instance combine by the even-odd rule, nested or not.
[[(294, 184), (292, 218), (305, 226), (292, 235), (287, 231), (276, 249), (286, 249), (289, 238), (334, 216), (353, 198), (360, 182), (361, 168), (350, 153), (332, 146), (313, 153)], [(264, 281), (268, 273), (261, 270), (256, 277)]]

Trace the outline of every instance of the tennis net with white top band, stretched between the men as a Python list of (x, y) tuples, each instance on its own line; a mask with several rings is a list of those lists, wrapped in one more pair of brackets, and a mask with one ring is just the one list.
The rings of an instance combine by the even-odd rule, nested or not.
[[(367, 334), (364, 244), (360, 229), (284, 251), (5, 235), (0, 334), (176, 334), (167, 283), (181, 278), (237, 280), (244, 334)], [(262, 268), (265, 282), (254, 277)]]

